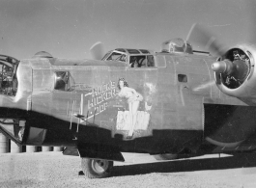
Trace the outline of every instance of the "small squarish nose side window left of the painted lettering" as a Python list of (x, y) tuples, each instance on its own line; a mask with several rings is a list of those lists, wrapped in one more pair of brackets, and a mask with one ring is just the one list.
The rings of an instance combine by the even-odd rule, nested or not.
[(54, 89), (59, 91), (73, 91), (74, 80), (69, 71), (56, 71)]

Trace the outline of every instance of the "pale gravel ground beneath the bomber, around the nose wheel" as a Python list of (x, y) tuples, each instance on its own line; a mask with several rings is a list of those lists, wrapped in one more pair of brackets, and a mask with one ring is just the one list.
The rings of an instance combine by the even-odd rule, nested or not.
[(0, 187), (256, 187), (256, 154), (206, 155), (156, 161), (148, 154), (123, 153), (113, 175), (88, 179), (80, 158), (61, 152), (0, 154)]

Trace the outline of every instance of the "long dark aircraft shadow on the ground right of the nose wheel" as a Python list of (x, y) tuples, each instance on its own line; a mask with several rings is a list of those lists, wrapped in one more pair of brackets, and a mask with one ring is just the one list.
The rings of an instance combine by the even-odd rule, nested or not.
[(185, 159), (157, 163), (114, 166), (112, 176), (180, 173), (256, 167), (256, 154), (238, 154), (223, 158)]

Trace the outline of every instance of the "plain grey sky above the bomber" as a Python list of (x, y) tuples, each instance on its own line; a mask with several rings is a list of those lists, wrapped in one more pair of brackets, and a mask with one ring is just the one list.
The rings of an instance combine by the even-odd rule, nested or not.
[[(253, 20), (245, 0), (1, 0), (0, 54), (90, 59), (90, 47), (160, 50), (186, 39), (193, 23), (207, 25), (233, 46), (248, 37)], [(256, 8), (255, 8), (256, 9)], [(193, 43), (192, 43), (193, 44)], [(198, 46), (193, 46), (196, 49)]]

